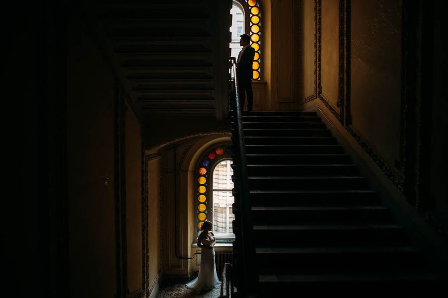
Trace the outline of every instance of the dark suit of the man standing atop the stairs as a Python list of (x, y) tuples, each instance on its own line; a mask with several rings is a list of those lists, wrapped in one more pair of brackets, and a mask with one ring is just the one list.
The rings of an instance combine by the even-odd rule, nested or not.
[(247, 110), (252, 110), (253, 92), (252, 92), (252, 62), (255, 56), (255, 50), (252, 47), (247, 47), (241, 55), (241, 58), (236, 68), (238, 76), (239, 100), (241, 102), (241, 109), (244, 107), (245, 94), (247, 94)]

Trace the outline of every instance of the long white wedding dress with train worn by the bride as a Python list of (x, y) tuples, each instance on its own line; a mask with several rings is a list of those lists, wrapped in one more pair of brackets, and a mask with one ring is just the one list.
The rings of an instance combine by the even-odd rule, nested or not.
[[(210, 241), (204, 239), (202, 243), (208, 245)], [(203, 246), (201, 248), (201, 265), (199, 266), (198, 277), (187, 284), (187, 287), (194, 289), (197, 293), (219, 288), (221, 282), (216, 273), (215, 248)]]

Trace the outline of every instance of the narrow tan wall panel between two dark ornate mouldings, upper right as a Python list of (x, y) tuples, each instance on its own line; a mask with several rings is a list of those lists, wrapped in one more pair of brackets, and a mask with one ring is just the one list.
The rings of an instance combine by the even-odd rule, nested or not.
[(339, 0), (322, 0), (321, 94), (337, 110), (339, 75)]

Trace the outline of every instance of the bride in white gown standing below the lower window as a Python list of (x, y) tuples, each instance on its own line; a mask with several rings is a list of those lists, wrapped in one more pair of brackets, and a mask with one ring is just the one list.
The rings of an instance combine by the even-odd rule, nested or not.
[(215, 234), (211, 231), (212, 223), (205, 221), (201, 227), (202, 231), (198, 237), (198, 246), (201, 247), (201, 265), (197, 278), (186, 286), (194, 289), (197, 293), (219, 288), (221, 285), (216, 273), (215, 265)]

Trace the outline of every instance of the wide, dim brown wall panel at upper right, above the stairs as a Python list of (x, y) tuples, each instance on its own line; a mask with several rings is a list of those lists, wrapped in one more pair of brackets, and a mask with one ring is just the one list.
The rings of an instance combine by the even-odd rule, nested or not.
[(400, 159), (401, 1), (351, 1), (353, 127), (391, 166)]

